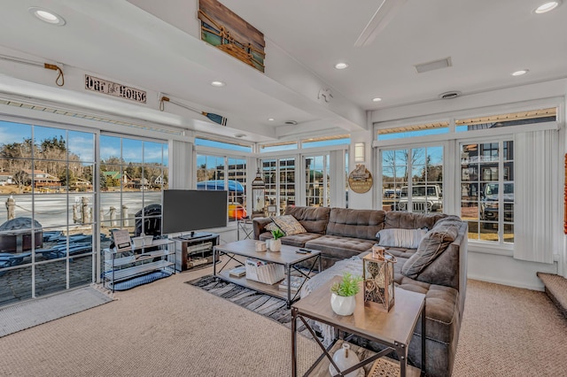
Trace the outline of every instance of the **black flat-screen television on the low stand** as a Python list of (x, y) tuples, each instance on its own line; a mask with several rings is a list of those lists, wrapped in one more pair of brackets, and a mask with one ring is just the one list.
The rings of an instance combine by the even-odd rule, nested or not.
[(164, 190), (162, 235), (226, 227), (228, 197), (227, 191)]

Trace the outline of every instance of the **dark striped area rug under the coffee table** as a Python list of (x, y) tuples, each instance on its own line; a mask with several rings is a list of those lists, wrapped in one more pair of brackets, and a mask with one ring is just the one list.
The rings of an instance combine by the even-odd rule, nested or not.
[[(291, 328), (291, 311), (287, 309), (282, 298), (269, 296), (221, 279), (217, 281), (213, 275), (185, 282)], [(299, 333), (310, 336), (299, 321), (298, 325), (301, 325), (298, 327)]]

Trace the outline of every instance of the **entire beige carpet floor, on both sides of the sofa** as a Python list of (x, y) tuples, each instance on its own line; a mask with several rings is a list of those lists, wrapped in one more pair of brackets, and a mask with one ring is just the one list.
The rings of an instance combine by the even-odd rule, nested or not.
[[(291, 375), (290, 330), (184, 284), (196, 277), (176, 274), (4, 336), (0, 375)], [(567, 321), (543, 292), (470, 281), (466, 305), (454, 376), (565, 375)], [(305, 371), (318, 349), (304, 337), (299, 348)]]

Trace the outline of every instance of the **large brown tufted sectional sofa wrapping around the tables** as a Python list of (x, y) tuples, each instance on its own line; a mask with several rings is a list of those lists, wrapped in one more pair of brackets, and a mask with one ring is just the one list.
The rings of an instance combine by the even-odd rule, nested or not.
[[(454, 227), (456, 236), (452, 237), (454, 240), (449, 239), (447, 249), (432, 258), (432, 261), (428, 260), (428, 264), (418, 273), (413, 273), (413, 279), (401, 271), (417, 250), (386, 246), (386, 249), (398, 260), (394, 265), (394, 280), (397, 287), (425, 295), (426, 374), (431, 377), (451, 375), (466, 294), (466, 222), (446, 214), (425, 215), (326, 207), (288, 206), (284, 214), (298, 219), (307, 233), (286, 235), (282, 238), (283, 244), (322, 251), (325, 271), (317, 274), (310, 282), (329, 280), (336, 274), (342, 273), (343, 265), (349, 264), (356, 268), (360, 265), (361, 274), (361, 257), (377, 243), (376, 235), (380, 230), (426, 228), (429, 230), (427, 233), (429, 236), (434, 234), (436, 229), (443, 229), (439, 232), (444, 232), (447, 225)], [(269, 218), (253, 220), (256, 239), (265, 240), (271, 237), (271, 234), (264, 229), (269, 222), (271, 222)], [(422, 244), (420, 243), (419, 250), (422, 249)], [(415, 261), (416, 257), (412, 261)], [(338, 261), (341, 262), (337, 263)], [(407, 273), (408, 268), (404, 270)], [(418, 321), (408, 350), (408, 361), (417, 367), (421, 367), (420, 324), (421, 321)], [(373, 350), (381, 348), (376, 343), (364, 340), (360, 340), (359, 344)]]

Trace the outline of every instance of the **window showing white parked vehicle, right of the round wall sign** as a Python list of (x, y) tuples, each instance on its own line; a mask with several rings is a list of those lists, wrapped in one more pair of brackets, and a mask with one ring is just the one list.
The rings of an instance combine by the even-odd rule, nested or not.
[(381, 153), (384, 211), (443, 211), (443, 147)]

